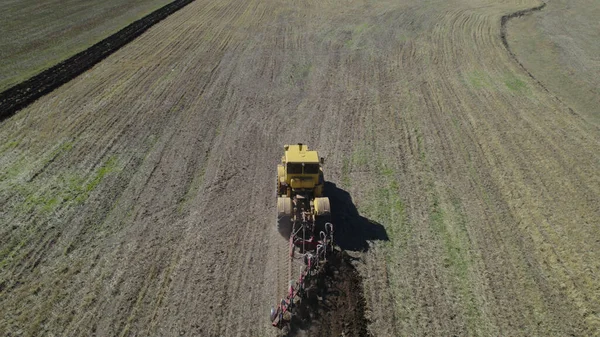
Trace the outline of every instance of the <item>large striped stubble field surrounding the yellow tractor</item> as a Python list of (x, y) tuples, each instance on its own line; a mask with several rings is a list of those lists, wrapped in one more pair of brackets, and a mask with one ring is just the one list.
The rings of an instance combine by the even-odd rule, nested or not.
[(537, 5), (188, 5), (0, 125), (0, 331), (275, 335), (303, 141), (374, 335), (597, 335), (599, 129), (500, 40)]

